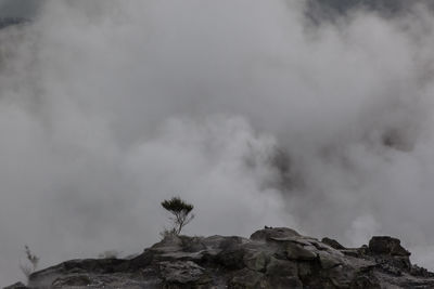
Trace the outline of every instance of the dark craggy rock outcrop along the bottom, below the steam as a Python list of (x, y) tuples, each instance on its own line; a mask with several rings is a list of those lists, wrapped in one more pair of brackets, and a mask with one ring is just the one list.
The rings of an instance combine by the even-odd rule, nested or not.
[(352, 249), (266, 227), (248, 239), (170, 236), (131, 260), (67, 261), (34, 273), (28, 288), (434, 288), (409, 255), (392, 237)]

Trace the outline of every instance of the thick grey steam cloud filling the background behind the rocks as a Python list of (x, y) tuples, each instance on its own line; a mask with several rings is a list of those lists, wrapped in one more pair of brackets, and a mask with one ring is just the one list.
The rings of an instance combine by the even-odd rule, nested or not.
[(434, 270), (425, 1), (13, 0), (0, 30), (0, 284), (191, 235), (393, 235)]

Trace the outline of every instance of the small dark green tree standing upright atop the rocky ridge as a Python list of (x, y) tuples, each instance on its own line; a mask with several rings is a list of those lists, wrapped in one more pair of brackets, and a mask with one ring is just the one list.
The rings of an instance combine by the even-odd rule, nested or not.
[(171, 199), (162, 201), (162, 206), (174, 216), (170, 220), (174, 223), (174, 228), (170, 233), (179, 235), (183, 226), (189, 224), (194, 219), (194, 214), (190, 214), (194, 206), (184, 202), (180, 197), (173, 197)]

